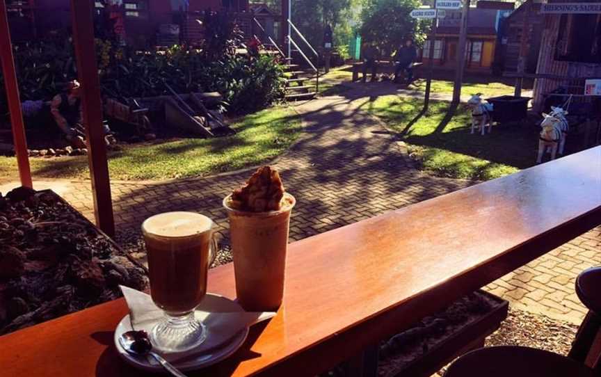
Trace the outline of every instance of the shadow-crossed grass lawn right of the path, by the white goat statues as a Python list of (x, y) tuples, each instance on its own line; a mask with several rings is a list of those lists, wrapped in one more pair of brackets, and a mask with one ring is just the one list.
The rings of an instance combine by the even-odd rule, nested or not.
[(395, 95), (378, 97), (364, 105), (384, 120), (408, 144), (422, 170), (443, 177), (492, 179), (533, 166), (538, 131), (534, 127), (503, 125), (492, 133), (470, 134), (467, 109), (449, 109), (448, 102), (423, 102)]

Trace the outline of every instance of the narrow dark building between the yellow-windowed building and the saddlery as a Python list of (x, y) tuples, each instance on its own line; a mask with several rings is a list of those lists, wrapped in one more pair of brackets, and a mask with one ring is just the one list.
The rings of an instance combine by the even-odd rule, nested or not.
[[(529, 8), (530, 7), (530, 8)], [(543, 34), (543, 15), (540, 3), (527, 0), (505, 20), (497, 42), (497, 72), (518, 72), (522, 33), (527, 33), (525, 72), (535, 73), (538, 65), (540, 40)]]

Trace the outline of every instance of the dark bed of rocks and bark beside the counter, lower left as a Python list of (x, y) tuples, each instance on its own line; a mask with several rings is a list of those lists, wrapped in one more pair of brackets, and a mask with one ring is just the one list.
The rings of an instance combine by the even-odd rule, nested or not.
[(147, 287), (147, 271), (52, 191), (0, 195), (0, 335)]

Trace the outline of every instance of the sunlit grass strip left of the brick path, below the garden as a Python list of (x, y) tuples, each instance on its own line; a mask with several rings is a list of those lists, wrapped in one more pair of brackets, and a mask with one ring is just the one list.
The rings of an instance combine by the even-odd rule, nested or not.
[[(234, 136), (127, 145), (109, 152), (111, 179), (170, 179), (236, 170), (273, 159), (298, 137), (301, 123), (287, 107), (247, 115)], [(31, 159), (34, 177), (88, 178), (87, 157)], [(0, 177), (16, 177), (14, 157), (0, 157)]]

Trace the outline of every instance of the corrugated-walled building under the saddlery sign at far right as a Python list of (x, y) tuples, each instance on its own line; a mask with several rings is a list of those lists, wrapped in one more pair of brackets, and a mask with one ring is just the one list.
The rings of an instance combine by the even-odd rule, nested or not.
[[(549, 0), (549, 3), (573, 3)], [(600, 3), (579, 0), (579, 3)], [(543, 109), (546, 95), (558, 88), (584, 94), (585, 79), (601, 79), (601, 10), (591, 13), (545, 13), (534, 83), (534, 105)]]

